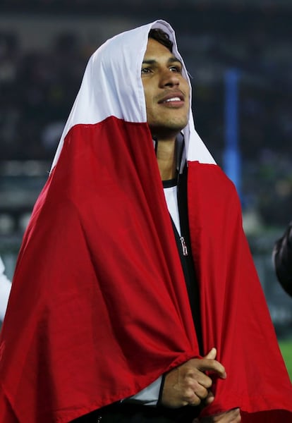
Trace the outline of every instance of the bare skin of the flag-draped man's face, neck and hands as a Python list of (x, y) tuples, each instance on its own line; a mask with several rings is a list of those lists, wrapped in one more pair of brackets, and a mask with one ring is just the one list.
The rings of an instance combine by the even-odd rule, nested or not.
[[(157, 140), (157, 163), (162, 180), (176, 174), (176, 136), (185, 128), (190, 113), (190, 86), (182, 75), (181, 62), (164, 45), (149, 39), (141, 69), (147, 111), (147, 123)], [(162, 404), (166, 407), (208, 405), (214, 400), (211, 372), (226, 378), (224, 366), (215, 360), (212, 348), (203, 358), (194, 358), (166, 374)], [(241, 422), (238, 409), (195, 419), (193, 423)]]

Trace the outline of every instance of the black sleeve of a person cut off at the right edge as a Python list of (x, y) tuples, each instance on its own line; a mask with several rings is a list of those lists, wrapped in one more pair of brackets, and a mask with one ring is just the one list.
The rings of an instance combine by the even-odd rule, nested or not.
[(273, 260), (276, 277), (286, 293), (292, 297), (292, 221), (274, 245)]

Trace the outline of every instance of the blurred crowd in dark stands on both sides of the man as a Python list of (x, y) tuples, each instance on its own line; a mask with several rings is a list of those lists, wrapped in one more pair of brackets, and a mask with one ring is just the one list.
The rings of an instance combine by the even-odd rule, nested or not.
[[(266, 225), (279, 226), (286, 225), (292, 210), (292, 30), (286, 20), (245, 14), (241, 25), (226, 18), (220, 27), (204, 30), (187, 21), (178, 31), (193, 76), (195, 125), (219, 164), (225, 142), (224, 75), (229, 68), (238, 70), (243, 207), (255, 208)], [(2, 162), (51, 161), (87, 59), (97, 47), (81, 42), (77, 32), (60, 31), (47, 49), (23, 49), (16, 31), (0, 27)]]

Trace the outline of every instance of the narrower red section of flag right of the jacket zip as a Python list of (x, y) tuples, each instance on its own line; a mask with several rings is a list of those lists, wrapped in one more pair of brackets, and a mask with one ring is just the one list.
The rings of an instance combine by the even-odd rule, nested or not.
[[(216, 346), (226, 381), (203, 414), (241, 407), (243, 422), (292, 422), (292, 387), (242, 230), (236, 189), (219, 166), (189, 163), (190, 233), (205, 351)], [(260, 412), (255, 416), (248, 413)], [(246, 413), (248, 412), (248, 413)]]

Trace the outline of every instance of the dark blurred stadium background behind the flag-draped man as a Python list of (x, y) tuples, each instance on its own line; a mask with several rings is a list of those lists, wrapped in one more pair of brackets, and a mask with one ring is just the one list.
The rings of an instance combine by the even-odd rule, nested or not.
[(0, 255), (6, 273), (12, 278), (87, 59), (108, 37), (157, 18), (176, 29), (193, 77), (195, 126), (223, 168), (226, 75), (238, 77), (243, 223), (289, 366), (292, 299), (276, 281), (271, 256), (292, 219), (291, 0), (1, 0)]

